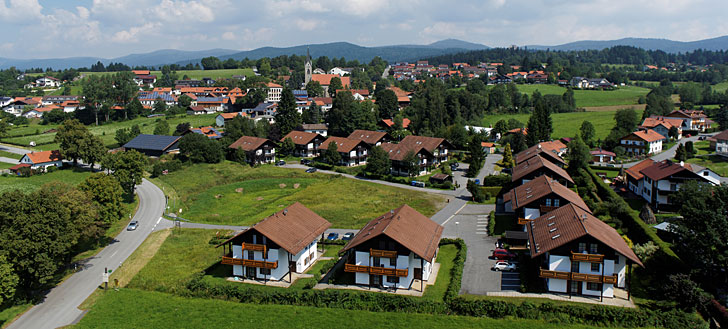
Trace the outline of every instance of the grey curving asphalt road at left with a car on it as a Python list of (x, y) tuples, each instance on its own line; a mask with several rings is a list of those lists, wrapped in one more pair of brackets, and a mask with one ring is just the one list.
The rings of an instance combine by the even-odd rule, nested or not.
[(83, 312), (78, 306), (102, 284), (104, 268), (115, 270), (139, 247), (155, 225), (160, 223), (165, 205), (162, 190), (144, 180), (137, 186), (137, 194), (139, 210), (134, 215), (134, 220), (139, 221), (139, 227), (136, 231), (121, 232), (109, 246), (90, 258), (76, 274), (53, 288), (41, 304), (23, 314), (8, 327), (9, 329), (57, 328), (80, 319)]

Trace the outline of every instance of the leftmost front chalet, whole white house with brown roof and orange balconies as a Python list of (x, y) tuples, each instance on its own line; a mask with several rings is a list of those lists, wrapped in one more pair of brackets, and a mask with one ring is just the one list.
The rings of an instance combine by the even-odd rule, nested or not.
[(218, 245), (233, 276), (280, 281), (306, 271), (318, 259), (317, 241), (331, 226), (296, 202)]

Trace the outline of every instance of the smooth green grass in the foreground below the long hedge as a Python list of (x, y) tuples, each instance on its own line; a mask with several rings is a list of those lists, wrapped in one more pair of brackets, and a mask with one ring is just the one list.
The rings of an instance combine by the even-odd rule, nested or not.
[(135, 289), (110, 290), (74, 328), (589, 328), (540, 320), (367, 312), (194, 299)]

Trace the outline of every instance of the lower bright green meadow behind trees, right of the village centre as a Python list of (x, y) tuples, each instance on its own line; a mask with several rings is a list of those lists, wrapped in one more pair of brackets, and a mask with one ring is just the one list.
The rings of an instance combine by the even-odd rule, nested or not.
[[(615, 113), (616, 111), (552, 113), (551, 120), (553, 122), (554, 133), (551, 134), (551, 137), (574, 137), (579, 132), (581, 123), (590, 121), (596, 130), (596, 138), (604, 139), (616, 124), (614, 121)], [(637, 114), (641, 117), (642, 111), (637, 111)], [(499, 120), (508, 121), (508, 119), (516, 119), (525, 126), (529, 117), (530, 114), (485, 115), (482, 125), (488, 127), (495, 125)]]

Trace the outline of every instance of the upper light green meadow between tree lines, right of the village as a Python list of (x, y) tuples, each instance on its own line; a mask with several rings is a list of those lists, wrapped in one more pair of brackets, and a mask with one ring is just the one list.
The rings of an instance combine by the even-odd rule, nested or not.
[[(538, 90), (542, 95), (562, 95), (565, 87), (556, 85), (516, 85), (522, 93), (533, 94)], [(650, 90), (642, 87), (624, 86), (616, 90), (574, 90), (577, 107), (632, 105), (637, 104), (640, 96), (647, 95)]]

